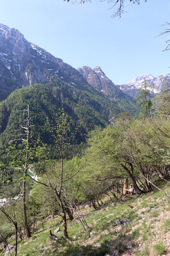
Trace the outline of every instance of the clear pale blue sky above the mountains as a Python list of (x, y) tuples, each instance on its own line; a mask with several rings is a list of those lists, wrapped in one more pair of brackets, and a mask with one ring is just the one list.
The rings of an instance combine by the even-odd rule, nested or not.
[(170, 73), (170, 51), (162, 51), (170, 33), (157, 37), (170, 22), (170, 1), (141, 1), (127, 0), (127, 12), (112, 19), (109, 4), (99, 0), (1, 0), (0, 22), (75, 68), (99, 65), (121, 84), (140, 74)]

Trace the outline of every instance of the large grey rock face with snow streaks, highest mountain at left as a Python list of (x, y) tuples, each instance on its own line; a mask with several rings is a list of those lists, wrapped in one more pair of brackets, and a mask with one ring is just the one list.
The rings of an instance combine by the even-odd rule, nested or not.
[[(0, 24), (0, 101), (15, 89), (45, 83), (52, 75), (72, 83), (86, 83), (63, 60), (28, 42), (19, 30)], [(10, 86), (6, 85), (6, 79)]]

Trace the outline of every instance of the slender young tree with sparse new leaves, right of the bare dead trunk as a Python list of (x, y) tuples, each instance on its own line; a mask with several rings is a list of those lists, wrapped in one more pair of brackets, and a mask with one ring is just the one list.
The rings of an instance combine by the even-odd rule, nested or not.
[[(54, 191), (54, 193), (56, 194), (56, 198), (58, 200), (59, 203), (59, 207), (61, 210), (61, 216), (63, 218), (63, 227), (64, 227), (64, 235), (65, 235), (65, 239), (66, 241), (68, 241), (68, 243), (71, 243), (71, 240), (68, 236), (68, 232), (67, 232), (67, 223), (66, 223), (66, 206), (65, 206), (65, 195), (63, 194), (63, 185), (67, 180), (71, 180), (73, 178), (73, 176), (76, 175), (76, 173), (72, 173), (68, 178), (66, 178), (66, 174), (65, 174), (65, 168), (64, 168), (64, 162), (65, 162), (65, 149), (66, 146), (68, 146), (69, 141), (72, 139), (73, 136), (75, 136), (77, 130), (74, 130), (72, 132), (72, 127), (70, 124), (70, 121), (68, 119), (68, 115), (65, 114), (63, 109), (59, 110), (58, 113), (58, 119), (56, 121), (56, 124), (50, 124), (49, 120), (47, 119), (47, 130), (49, 130), (49, 132), (51, 133), (52, 137), (54, 138), (54, 142), (56, 145), (56, 148), (58, 148), (59, 151), (59, 156), (60, 156), (60, 160), (58, 162), (58, 165), (60, 164), (60, 167), (56, 168), (54, 167), (54, 164), (51, 165), (51, 167), (49, 166), (49, 164), (47, 164), (47, 155), (43, 154), (43, 149), (44, 148), (37, 148), (37, 155), (39, 155), (39, 159), (42, 163), (43, 167), (43, 173), (45, 175), (45, 180), (42, 181), (38, 181), (35, 180), (33, 177), (29, 176), (30, 178), (32, 178), (33, 180), (35, 180), (35, 182), (40, 183), (42, 185), (45, 185), (45, 187), (48, 187), (49, 189), (52, 189), (52, 191)], [(39, 152), (38, 152), (39, 150)], [(51, 175), (48, 171), (48, 169), (50, 169), (50, 173), (54, 173), (54, 175), (56, 176), (54, 179), (51, 179)], [(59, 170), (60, 169), (60, 170)], [(59, 171), (58, 171), (59, 170)]]

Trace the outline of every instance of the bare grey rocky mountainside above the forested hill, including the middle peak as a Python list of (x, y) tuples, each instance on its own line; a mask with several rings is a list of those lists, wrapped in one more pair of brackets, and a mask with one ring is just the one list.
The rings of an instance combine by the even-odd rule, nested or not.
[(132, 99), (121, 92), (99, 67), (87, 69), (93, 74), (92, 79), (84, 75), (85, 68), (77, 71), (60, 58), (28, 42), (19, 30), (0, 24), (0, 101), (16, 89), (45, 83), (51, 76), (56, 76), (79, 89), (100, 90), (101, 95), (104, 93), (112, 99), (121, 111), (132, 111)]

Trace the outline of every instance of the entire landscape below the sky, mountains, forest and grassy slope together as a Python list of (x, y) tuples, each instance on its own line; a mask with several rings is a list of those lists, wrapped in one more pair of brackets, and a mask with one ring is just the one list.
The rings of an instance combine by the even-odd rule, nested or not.
[(0, 24), (0, 255), (169, 255), (169, 85)]

